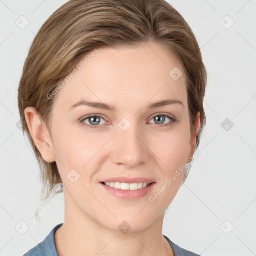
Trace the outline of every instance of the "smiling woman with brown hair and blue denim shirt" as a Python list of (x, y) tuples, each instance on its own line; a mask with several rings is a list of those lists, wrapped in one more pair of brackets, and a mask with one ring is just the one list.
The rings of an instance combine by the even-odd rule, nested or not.
[(205, 87), (195, 36), (164, 0), (57, 9), (30, 47), (18, 105), (44, 199), (64, 191), (65, 218), (25, 255), (198, 255), (162, 223), (199, 145)]

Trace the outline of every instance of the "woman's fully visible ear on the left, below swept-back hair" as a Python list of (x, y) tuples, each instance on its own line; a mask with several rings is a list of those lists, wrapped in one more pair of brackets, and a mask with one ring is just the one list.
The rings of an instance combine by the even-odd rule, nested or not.
[(32, 106), (26, 107), (24, 114), (31, 137), (37, 149), (40, 151), (42, 158), (46, 162), (54, 162), (55, 157), (53, 155), (50, 134), (46, 125), (41, 120), (40, 115)]

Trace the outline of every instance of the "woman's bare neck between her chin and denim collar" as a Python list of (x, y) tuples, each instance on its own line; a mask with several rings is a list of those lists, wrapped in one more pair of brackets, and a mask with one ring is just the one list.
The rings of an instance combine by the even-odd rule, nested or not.
[[(66, 198), (65, 196), (68, 205), (65, 204), (65, 219), (55, 233), (59, 256), (174, 255), (170, 244), (162, 235), (164, 214), (143, 230), (121, 232), (105, 227), (95, 220), (95, 216), (89, 216)], [(117, 224), (121, 222), (119, 220)]]

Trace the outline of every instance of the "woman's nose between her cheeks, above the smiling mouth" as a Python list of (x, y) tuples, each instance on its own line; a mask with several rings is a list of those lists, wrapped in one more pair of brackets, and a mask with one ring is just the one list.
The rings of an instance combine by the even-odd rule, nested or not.
[(126, 131), (117, 130), (111, 144), (111, 152), (115, 164), (123, 164), (128, 168), (147, 163), (153, 154), (146, 133), (139, 131), (135, 125), (131, 125)]

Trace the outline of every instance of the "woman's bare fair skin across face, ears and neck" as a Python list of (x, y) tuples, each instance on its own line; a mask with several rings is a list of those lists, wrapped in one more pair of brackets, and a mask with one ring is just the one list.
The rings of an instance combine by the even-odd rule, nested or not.
[[(56, 161), (64, 184), (65, 218), (55, 233), (57, 252), (60, 256), (174, 255), (162, 236), (162, 224), (184, 172), (154, 202), (148, 198), (195, 150), (199, 112), (195, 133), (190, 133), (183, 68), (172, 52), (155, 43), (98, 50), (54, 96), (50, 129), (33, 107), (25, 109), (37, 148), (45, 161)], [(183, 71), (178, 80), (169, 75), (174, 67)], [(116, 111), (90, 106), (68, 111), (81, 99), (111, 104)], [(183, 106), (146, 108), (164, 99), (180, 100)], [(79, 123), (93, 114), (103, 118), (97, 128)], [(171, 125), (163, 126), (153, 118), (160, 114), (177, 121), (166, 117), (162, 123)], [(131, 124), (127, 131), (118, 126), (123, 118)], [(89, 119), (84, 122), (93, 126)], [(74, 183), (66, 176), (71, 169), (80, 174)], [(99, 183), (116, 176), (146, 177), (156, 183), (149, 194), (122, 200)], [(127, 233), (118, 228), (124, 220), (131, 227)]]

